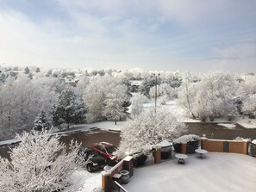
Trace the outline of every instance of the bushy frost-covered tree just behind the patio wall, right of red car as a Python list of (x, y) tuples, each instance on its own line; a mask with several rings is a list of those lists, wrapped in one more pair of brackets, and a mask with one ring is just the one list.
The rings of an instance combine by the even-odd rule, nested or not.
[(122, 157), (124, 152), (147, 153), (164, 139), (176, 139), (186, 130), (183, 122), (170, 111), (159, 108), (157, 113), (145, 110), (133, 120), (128, 121), (122, 129), (121, 142), (117, 156)]

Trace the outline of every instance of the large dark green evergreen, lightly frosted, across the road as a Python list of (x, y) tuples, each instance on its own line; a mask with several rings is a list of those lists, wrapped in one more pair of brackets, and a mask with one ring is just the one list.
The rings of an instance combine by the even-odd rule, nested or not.
[(59, 103), (53, 108), (53, 124), (59, 127), (67, 124), (67, 129), (72, 123), (79, 123), (85, 119), (86, 108), (82, 100), (74, 93), (74, 90), (67, 87), (59, 95)]

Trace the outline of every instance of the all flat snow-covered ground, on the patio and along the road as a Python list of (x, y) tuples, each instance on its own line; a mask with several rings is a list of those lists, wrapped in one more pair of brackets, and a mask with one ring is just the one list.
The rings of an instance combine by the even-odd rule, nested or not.
[[(145, 108), (153, 108), (154, 103), (144, 104)], [(184, 122), (197, 122), (186, 116), (185, 108), (178, 105), (178, 100), (172, 100), (163, 106), (177, 114)], [(243, 127), (255, 128), (256, 120), (237, 118)], [(219, 125), (233, 128), (234, 123), (225, 119), (217, 119)], [(225, 122), (225, 123), (223, 123)], [(69, 133), (74, 131), (90, 131), (97, 127), (103, 130), (122, 130), (126, 121), (101, 121), (92, 124), (76, 125)], [(16, 139), (1, 141), (1, 145), (15, 142)], [(213, 153), (207, 158), (198, 159), (190, 155), (185, 165), (177, 164), (177, 159), (165, 161), (134, 170), (134, 177), (130, 183), (124, 185), (129, 192), (133, 191), (253, 191), (256, 189), (256, 160), (246, 155)], [(87, 170), (77, 171), (71, 178), (72, 183), (81, 183), (78, 192), (91, 192), (101, 188), (101, 172), (89, 173)], [(97, 190), (94, 190), (97, 191)]]

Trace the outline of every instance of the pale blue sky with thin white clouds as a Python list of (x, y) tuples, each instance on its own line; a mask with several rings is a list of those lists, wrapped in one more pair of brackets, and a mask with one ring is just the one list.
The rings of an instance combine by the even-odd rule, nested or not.
[(256, 71), (256, 0), (0, 0), (0, 65)]

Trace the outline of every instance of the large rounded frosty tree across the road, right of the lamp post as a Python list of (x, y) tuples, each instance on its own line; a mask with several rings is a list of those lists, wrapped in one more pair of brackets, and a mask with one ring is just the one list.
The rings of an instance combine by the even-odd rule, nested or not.
[(207, 117), (211, 121), (215, 117), (234, 117), (237, 115), (234, 85), (234, 77), (219, 71), (203, 75), (196, 83), (184, 78), (179, 99), (194, 118), (203, 121)]

